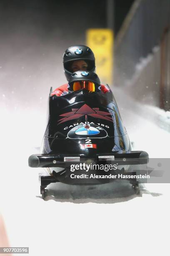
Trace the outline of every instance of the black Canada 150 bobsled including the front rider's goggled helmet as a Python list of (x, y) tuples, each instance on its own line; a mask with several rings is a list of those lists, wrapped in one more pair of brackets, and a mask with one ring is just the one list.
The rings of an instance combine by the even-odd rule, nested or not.
[[(116, 177), (113, 174), (125, 173), (131, 165), (148, 163), (145, 151), (132, 151), (117, 103), (107, 88), (106, 93), (101, 90), (97, 74), (80, 71), (70, 77), (67, 94), (57, 97), (50, 89), (41, 154), (28, 159), (30, 167), (47, 171), (48, 175), (40, 177), (42, 198), (50, 183), (114, 182), (117, 178), (112, 178)], [(127, 182), (138, 191), (137, 179)]]

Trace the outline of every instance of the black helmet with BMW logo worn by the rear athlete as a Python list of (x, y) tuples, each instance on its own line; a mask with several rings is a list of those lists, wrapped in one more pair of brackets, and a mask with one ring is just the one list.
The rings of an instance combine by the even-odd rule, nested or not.
[(63, 55), (64, 72), (67, 80), (72, 74), (71, 64), (75, 60), (84, 60), (87, 62), (88, 71), (95, 71), (95, 56), (92, 50), (85, 45), (75, 45), (69, 47)]

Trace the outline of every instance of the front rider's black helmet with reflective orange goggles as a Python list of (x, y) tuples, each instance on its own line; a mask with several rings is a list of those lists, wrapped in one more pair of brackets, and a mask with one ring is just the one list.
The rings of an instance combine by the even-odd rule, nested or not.
[(68, 81), (68, 90), (77, 91), (85, 89), (88, 92), (95, 92), (100, 87), (100, 79), (94, 72), (77, 71), (71, 74)]

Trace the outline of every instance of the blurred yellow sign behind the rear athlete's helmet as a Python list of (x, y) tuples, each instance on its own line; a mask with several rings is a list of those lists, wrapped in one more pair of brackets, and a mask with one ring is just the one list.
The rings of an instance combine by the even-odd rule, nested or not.
[(87, 30), (87, 46), (95, 54), (96, 74), (102, 83), (112, 84), (113, 31), (108, 28)]

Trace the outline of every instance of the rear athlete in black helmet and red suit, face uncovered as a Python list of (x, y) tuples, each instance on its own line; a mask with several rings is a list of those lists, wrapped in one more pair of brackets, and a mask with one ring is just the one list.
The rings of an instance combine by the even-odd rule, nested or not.
[[(72, 73), (76, 71), (89, 71), (95, 72), (95, 56), (92, 50), (85, 45), (76, 45), (69, 47), (63, 55), (63, 66), (65, 77), (67, 81), (69, 80)], [(57, 87), (52, 95), (62, 96), (67, 94), (68, 84), (63, 84), (60, 87)], [(104, 93), (109, 92), (109, 89), (106, 85), (101, 84), (100, 90)]]

